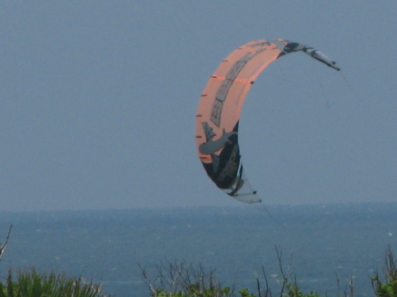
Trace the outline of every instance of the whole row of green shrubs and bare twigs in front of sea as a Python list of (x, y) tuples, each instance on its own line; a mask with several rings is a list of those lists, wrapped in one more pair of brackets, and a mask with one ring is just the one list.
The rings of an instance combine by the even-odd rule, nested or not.
[[(10, 237), (12, 225), (8, 230), (4, 245), (0, 244), (0, 260)], [(232, 286), (223, 286), (217, 279), (215, 270), (206, 270), (202, 264), (194, 266), (186, 262), (173, 261), (156, 266), (156, 274), (150, 277), (147, 269), (140, 264), (138, 268), (142, 280), (147, 285), (151, 297), (321, 297), (316, 292), (303, 293), (299, 287), (297, 277), (292, 273), (285, 273), (282, 265), (282, 250), (275, 247), (281, 286), (279, 292), (273, 294), (270, 290), (265, 268), (262, 266), (263, 279), (256, 277), (257, 292), (251, 293), (247, 288), (236, 289), (236, 282)], [(290, 270), (288, 270), (290, 271)], [(337, 297), (355, 297), (356, 290), (353, 277), (346, 288), (341, 290), (337, 278)], [(384, 277), (378, 271), (370, 279), (375, 297), (397, 297), (397, 267), (392, 247), (389, 246), (385, 254)], [(261, 285), (262, 283), (262, 285)], [(102, 292), (101, 284), (86, 282), (80, 277), (67, 277), (65, 274), (38, 273), (34, 268), (30, 271), (19, 271), (13, 279), (12, 270), (3, 283), (0, 280), (0, 297), (109, 297)], [(136, 296), (131, 292), (131, 296)], [(327, 296), (327, 293), (325, 294)]]

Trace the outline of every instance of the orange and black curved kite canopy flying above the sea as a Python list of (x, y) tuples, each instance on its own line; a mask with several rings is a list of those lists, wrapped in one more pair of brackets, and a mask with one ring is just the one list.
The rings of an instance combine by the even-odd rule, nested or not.
[(238, 145), (244, 100), (255, 79), (280, 56), (303, 51), (333, 69), (334, 61), (317, 49), (282, 39), (258, 40), (229, 54), (210, 77), (196, 114), (196, 143), (205, 171), (216, 186), (238, 200), (260, 202), (245, 176)]

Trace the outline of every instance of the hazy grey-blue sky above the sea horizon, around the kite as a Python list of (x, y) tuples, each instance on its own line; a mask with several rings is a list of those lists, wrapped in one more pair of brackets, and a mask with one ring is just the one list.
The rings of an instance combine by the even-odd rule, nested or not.
[[(238, 205), (207, 178), (195, 114), (253, 40), (293, 53), (248, 94), (239, 142), (265, 204), (397, 200), (396, 1), (5, 1), (0, 210)], [(240, 205), (240, 204), (239, 204)]]

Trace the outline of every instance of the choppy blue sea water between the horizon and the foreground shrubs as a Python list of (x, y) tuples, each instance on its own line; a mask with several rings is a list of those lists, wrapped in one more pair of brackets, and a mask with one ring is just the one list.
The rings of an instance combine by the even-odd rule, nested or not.
[[(245, 204), (242, 204), (245, 205)], [(216, 268), (224, 285), (256, 293), (262, 266), (273, 294), (280, 270), (304, 292), (336, 296), (353, 277), (358, 296), (373, 296), (369, 278), (384, 267), (389, 245), (397, 254), (397, 203), (351, 205), (198, 207), (103, 211), (0, 212), (0, 241), (13, 228), (0, 262), (65, 272), (102, 283), (115, 297), (149, 296), (137, 264), (155, 276), (167, 261)]]

